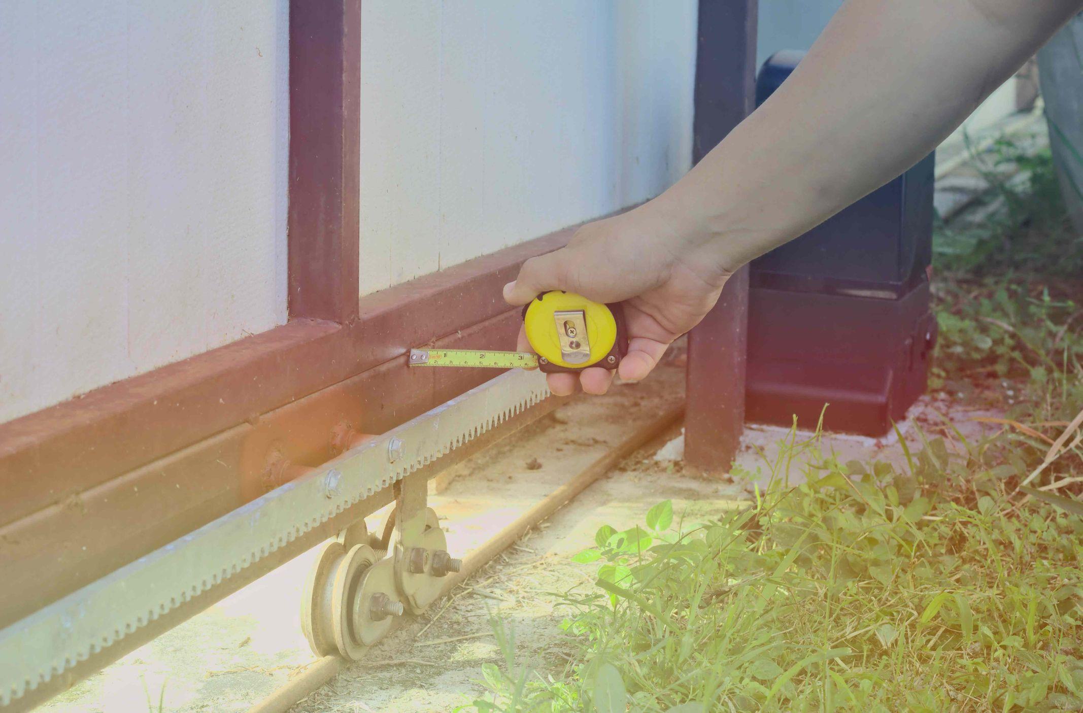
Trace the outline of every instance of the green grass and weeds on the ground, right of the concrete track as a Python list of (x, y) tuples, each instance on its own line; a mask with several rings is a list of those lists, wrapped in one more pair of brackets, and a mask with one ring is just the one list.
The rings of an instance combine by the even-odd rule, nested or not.
[(595, 591), (562, 601), (574, 660), (518, 661), (494, 620), (505, 662), (470, 710), (1083, 711), (1083, 251), (1048, 157), (999, 151), (1031, 180), (940, 230), (932, 387), (1010, 388), (1004, 429), (945, 424), (903, 468), (791, 435), (746, 508), (602, 528), (576, 556)]

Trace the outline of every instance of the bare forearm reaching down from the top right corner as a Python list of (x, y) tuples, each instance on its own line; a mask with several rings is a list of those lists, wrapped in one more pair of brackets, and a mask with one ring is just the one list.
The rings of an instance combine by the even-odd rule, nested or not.
[(1081, 4), (847, 0), (791, 78), (657, 209), (732, 271), (919, 160)]

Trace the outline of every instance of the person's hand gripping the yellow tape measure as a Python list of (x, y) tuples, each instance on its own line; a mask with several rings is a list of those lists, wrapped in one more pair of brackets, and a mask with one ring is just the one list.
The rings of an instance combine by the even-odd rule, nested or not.
[[(628, 381), (645, 377), (674, 339), (699, 324), (729, 277), (715, 264), (707, 241), (697, 241), (687, 221), (654, 203), (583, 225), (566, 247), (531, 258), (504, 287), (511, 304), (526, 304), (551, 289), (622, 302), (628, 354), (617, 372)], [(523, 330), (518, 349), (531, 350)], [(612, 380), (612, 371), (597, 366), (548, 375), (557, 396), (575, 392), (577, 385), (587, 393), (605, 393)]]

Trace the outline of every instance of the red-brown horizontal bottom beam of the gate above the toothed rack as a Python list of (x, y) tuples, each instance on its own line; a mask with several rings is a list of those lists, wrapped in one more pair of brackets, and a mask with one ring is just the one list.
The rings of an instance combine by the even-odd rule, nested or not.
[(406, 354), (513, 345), (500, 288), (572, 232), (365, 297), (356, 322), (291, 322), (0, 425), (0, 626), (280, 484), (275, 463), (323, 463), (338, 432), (384, 432), (490, 378)]

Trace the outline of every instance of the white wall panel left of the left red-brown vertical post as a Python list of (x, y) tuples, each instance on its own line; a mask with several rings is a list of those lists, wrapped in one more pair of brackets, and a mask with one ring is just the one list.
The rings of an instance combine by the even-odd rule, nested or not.
[(287, 0), (0, 2), (0, 420), (286, 317)]

